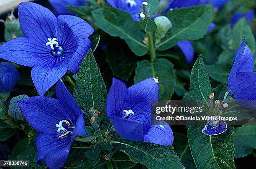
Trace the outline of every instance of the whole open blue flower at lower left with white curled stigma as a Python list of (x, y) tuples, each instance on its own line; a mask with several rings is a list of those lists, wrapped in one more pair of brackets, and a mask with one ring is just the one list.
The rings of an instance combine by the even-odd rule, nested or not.
[(78, 134), (87, 136), (82, 111), (62, 80), (56, 84), (58, 100), (50, 97), (30, 97), (18, 101), (29, 124), (40, 134), (36, 137), (37, 164), (60, 169), (67, 161), (69, 149)]

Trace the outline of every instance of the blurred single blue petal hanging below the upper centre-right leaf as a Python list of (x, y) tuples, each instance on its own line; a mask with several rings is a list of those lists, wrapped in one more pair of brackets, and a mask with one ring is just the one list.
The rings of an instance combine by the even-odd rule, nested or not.
[(177, 43), (177, 46), (185, 55), (187, 64), (191, 63), (194, 59), (195, 51), (193, 45), (189, 42), (189, 40), (180, 41)]

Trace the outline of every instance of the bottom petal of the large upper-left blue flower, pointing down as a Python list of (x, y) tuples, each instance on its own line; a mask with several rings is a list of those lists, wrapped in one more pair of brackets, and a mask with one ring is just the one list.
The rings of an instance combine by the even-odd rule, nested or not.
[(67, 65), (61, 58), (52, 58), (48, 62), (36, 65), (31, 71), (32, 80), (40, 96), (44, 96), (62, 76), (67, 72)]

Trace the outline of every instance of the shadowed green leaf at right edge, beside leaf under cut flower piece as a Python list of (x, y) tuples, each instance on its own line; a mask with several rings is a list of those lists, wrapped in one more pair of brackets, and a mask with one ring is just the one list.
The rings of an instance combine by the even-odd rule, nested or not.
[(245, 157), (256, 149), (256, 126), (247, 125), (235, 128), (235, 154), (236, 158)]

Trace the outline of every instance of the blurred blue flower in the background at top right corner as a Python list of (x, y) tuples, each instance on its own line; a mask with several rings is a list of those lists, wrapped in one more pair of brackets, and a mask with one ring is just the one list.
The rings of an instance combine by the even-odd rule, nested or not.
[(235, 25), (238, 20), (240, 20), (242, 17), (245, 17), (248, 23), (251, 23), (254, 17), (254, 10), (249, 10), (247, 12), (242, 12), (241, 9), (237, 10), (233, 16), (231, 17), (231, 25)]

